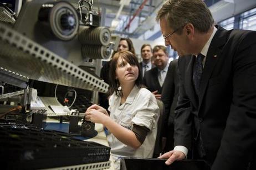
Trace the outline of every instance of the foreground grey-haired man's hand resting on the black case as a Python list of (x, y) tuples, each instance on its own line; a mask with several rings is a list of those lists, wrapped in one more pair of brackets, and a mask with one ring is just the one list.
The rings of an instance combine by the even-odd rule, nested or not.
[(165, 154), (163, 154), (162, 156), (160, 156), (158, 158), (160, 158), (160, 159), (168, 159), (168, 160), (165, 161), (165, 164), (170, 165), (174, 161), (184, 160), (186, 158), (186, 156), (181, 151), (170, 151), (170, 152), (166, 152)]

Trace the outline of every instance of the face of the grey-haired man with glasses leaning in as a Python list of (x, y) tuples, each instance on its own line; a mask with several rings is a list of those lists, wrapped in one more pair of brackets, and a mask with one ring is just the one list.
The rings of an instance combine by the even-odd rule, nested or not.
[(189, 40), (187, 39), (187, 36), (184, 33), (183, 28), (180, 28), (180, 30), (182, 30), (182, 34), (177, 34), (177, 31), (180, 30), (173, 30), (172, 28), (170, 28), (170, 26), (168, 26), (167, 22), (168, 21), (165, 18), (161, 18), (159, 22), (163, 36), (167, 36), (170, 33), (173, 33), (165, 39), (165, 45), (170, 45), (173, 50), (177, 51), (178, 56), (190, 54), (190, 52), (188, 52)]

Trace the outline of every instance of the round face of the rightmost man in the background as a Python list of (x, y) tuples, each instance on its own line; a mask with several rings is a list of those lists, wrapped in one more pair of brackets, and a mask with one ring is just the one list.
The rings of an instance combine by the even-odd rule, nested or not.
[(154, 61), (155, 61), (154, 63), (157, 68), (162, 70), (163, 68), (166, 67), (166, 65), (168, 63), (168, 56), (165, 54), (165, 52), (162, 49), (154, 52), (153, 58), (154, 58)]

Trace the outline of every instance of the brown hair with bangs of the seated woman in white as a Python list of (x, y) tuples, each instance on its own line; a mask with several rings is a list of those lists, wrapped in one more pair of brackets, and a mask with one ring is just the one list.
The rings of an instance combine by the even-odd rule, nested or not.
[(117, 60), (119, 57), (122, 58), (122, 60), (125, 60), (130, 65), (137, 66), (139, 68), (138, 78), (135, 81), (135, 84), (138, 87), (144, 87), (141, 83), (141, 75), (140, 75), (140, 66), (139, 61), (137, 60), (137, 57), (132, 54), (130, 51), (121, 50), (115, 53), (115, 55), (112, 57), (112, 60), (110, 61), (110, 67), (109, 67), (109, 94), (112, 94), (115, 92), (117, 96), (121, 96), (121, 91), (118, 90), (120, 83), (119, 80), (116, 79), (116, 68), (117, 68)]

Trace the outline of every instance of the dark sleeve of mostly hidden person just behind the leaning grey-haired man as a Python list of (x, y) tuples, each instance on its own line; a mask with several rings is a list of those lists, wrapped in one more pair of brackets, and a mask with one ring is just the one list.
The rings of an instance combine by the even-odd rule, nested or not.
[(175, 95), (175, 83), (174, 83), (175, 67), (176, 66), (173, 65), (173, 62), (171, 62), (168, 67), (165, 82), (163, 83), (163, 86), (162, 86), (161, 100), (165, 105), (165, 112), (163, 113), (163, 119), (162, 119), (163, 120), (163, 128), (162, 128), (163, 137), (167, 136), (168, 120), (170, 116), (173, 97)]

